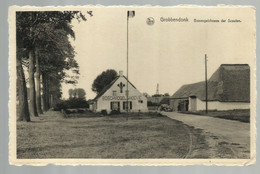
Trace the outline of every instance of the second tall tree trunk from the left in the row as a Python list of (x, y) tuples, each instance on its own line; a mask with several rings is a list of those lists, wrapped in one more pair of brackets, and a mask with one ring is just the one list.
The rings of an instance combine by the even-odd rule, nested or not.
[(33, 51), (29, 52), (29, 111), (30, 111), (30, 116), (38, 116), (37, 109), (36, 109), (36, 97), (35, 97), (35, 82), (34, 82), (34, 67), (35, 67), (35, 62), (34, 62), (34, 55)]

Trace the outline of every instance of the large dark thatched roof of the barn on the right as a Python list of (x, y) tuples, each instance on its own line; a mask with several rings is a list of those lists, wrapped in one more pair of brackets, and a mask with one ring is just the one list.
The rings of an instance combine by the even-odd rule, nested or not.
[[(205, 82), (183, 85), (171, 98), (196, 96), (206, 100)], [(250, 102), (250, 67), (248, 64), (222, 64), (208, 80), (208, 100)]]

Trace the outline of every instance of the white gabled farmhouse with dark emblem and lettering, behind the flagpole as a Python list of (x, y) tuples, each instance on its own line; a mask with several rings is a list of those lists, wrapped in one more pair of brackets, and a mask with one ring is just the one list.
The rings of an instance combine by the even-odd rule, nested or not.
[[(127, 105), (127, 83), (128, 83), (128, 105)], [(94, 112), (106, 110), (126, 112), (147, 112), (147, 99), (136, 87), (127, 80), (123, 72), (107, 85), (90, 103), (90, 109)]]

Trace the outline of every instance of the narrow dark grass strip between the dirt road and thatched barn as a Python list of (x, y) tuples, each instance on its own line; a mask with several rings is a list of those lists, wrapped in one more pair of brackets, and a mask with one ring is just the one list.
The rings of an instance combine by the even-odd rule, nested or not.
[(185, 114), (195, 114), (195, 115), (206, 115), (212, 116), (216, 118), (223, 118), (228, 120), (237, 120), (245, 123), (250, 122), (250, 110), (249, 109), (236, 109), (236, 110), (228, 110), (228, 111), (198, 111), (198, 112), (182, 112)]

